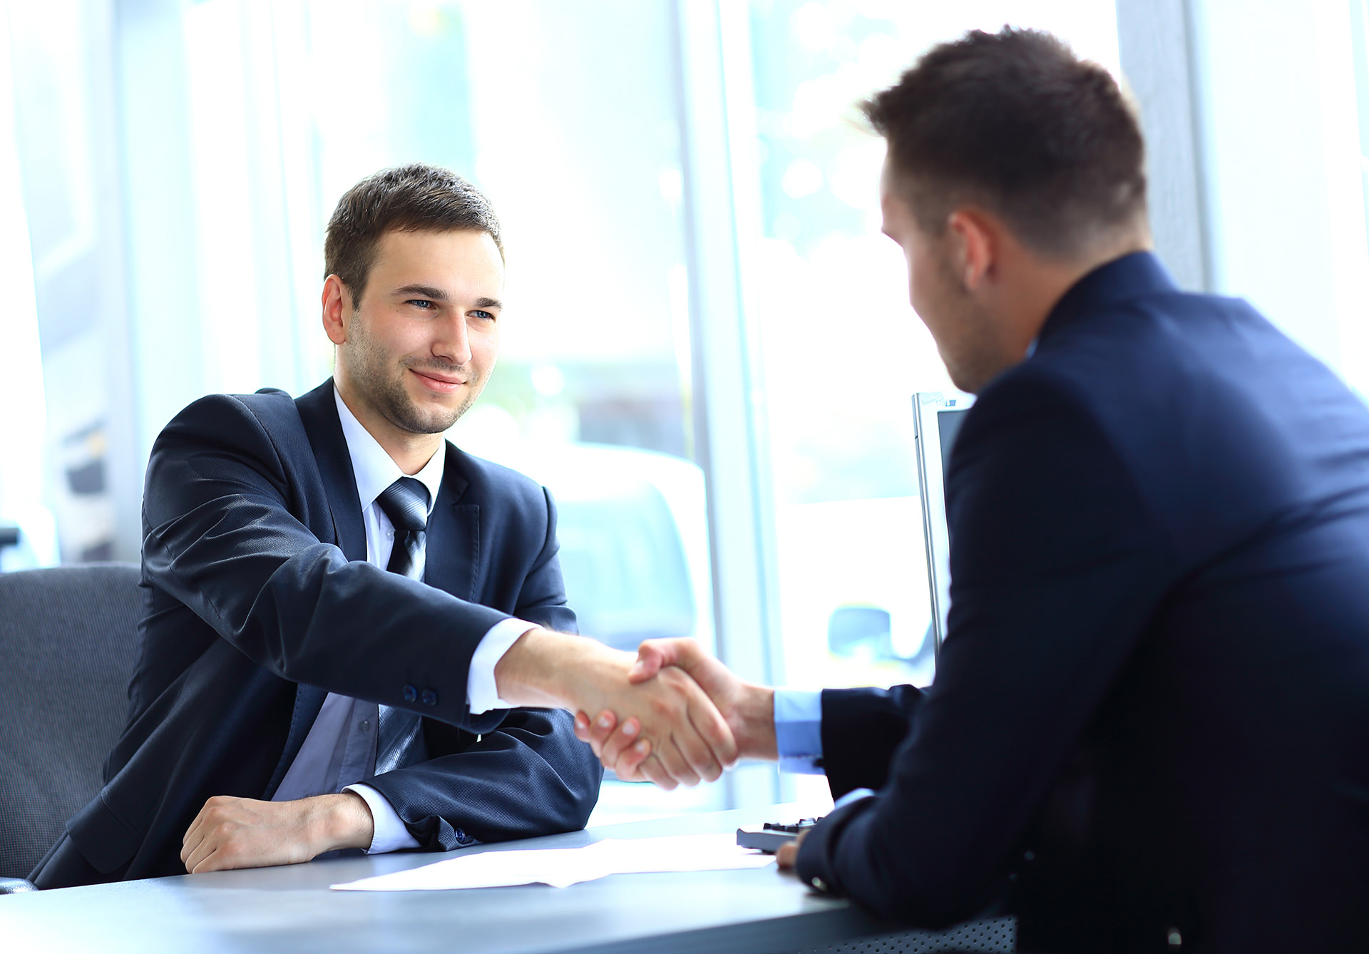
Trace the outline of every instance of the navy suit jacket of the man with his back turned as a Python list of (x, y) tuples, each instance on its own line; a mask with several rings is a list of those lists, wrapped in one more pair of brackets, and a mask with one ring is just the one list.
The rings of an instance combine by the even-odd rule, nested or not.
[(1083, 278), (947, 474), (935, 683), (828, 691), (799, 875), (1024, 950), (1369, 947), (1369, 412), (1154, 257)]

